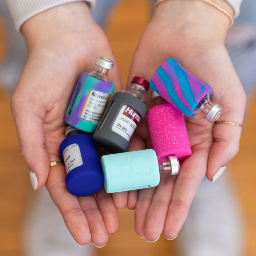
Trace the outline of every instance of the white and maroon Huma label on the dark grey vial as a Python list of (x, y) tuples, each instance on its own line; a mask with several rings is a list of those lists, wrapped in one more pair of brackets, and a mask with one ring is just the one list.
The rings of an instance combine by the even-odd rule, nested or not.
[(123, 105), (112, 125), (112, 131), (129, 141), (140, 118), (140, 114), (136, 110), (128, 105)]

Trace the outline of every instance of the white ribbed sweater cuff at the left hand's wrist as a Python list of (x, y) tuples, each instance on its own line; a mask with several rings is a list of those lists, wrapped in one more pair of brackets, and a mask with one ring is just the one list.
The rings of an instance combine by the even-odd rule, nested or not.
[[(81, 1), (81, 0), (5, 0), (9, 8), (10, 14), (14, 21), (17, 31), (20, 31), (21, 25), (32, 16), (50, 9), (54, 6), (65, 4), (67, 2)], [(84, 0), (90, 9), (95, 6), (96, 0)]]

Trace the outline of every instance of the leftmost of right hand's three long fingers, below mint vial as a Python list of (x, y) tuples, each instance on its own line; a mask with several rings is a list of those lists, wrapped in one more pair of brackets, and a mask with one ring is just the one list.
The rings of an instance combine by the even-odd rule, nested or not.
[(142, 238), (145, 238), (144, 226), (146, 214), (151, 204), (155, 189), (155, 187), (144, 188), (138, 192), (138, 201), (134, 211), (134, 228), (135, 232)]

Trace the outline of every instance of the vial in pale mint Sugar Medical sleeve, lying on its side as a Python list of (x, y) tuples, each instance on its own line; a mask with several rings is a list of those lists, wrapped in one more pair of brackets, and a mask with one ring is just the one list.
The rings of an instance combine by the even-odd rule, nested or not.
[(158, 159), (153, 149), (103, 155), (101, 166), (107, 193), (155, 187), (162, 174), (180, 169), (177, 158)]

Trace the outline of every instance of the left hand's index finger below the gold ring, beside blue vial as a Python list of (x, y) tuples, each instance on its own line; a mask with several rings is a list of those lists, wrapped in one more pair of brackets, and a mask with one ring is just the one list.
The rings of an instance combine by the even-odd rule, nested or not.
[(84, 246), (91, 241), (90, 228), (78, 198), (70, 194), (66, 188), (65, 176), (63, 165), (50, 167), (46, 188), (62, 214), (70, 234), (79, 245)]

